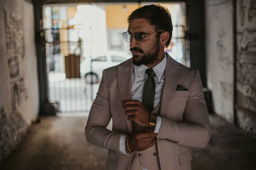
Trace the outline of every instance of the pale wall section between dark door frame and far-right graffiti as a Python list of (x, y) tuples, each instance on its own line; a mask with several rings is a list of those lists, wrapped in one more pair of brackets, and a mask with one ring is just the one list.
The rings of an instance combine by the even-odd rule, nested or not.
[(233, 122), (233, 22), (232, 1), (212, 6), (206, 0), (207, 85), (216, 114)]

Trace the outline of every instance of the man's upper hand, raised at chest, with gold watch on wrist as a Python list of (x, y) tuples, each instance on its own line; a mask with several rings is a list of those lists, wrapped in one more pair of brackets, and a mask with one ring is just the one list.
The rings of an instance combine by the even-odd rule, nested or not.
[(128, 120), (136, 122), (138, 125), (147, 127), (149, 125), (150, 114), (142, 103), (138, 100), (123, 100), (123, 108)]

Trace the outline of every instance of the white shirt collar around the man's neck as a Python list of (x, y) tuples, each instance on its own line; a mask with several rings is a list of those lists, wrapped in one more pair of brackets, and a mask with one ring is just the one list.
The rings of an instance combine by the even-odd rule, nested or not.
[[(166, 58), (166, 53), (164, 53), (163, 60), (152, 68), (154, 70), (157, 78), (159, 79), (159, 81), (163, 77), (163, 73), (166, 68), (166, 63), (167, 63), (167, 58)], [(145, 65), (140, 65), (140, 66), (134, 65), (134, 66), (135, 66), (140, 78), (143, 79), (144, 73), (145, 73), (146, 69), (148, 69), (148, 67)]]

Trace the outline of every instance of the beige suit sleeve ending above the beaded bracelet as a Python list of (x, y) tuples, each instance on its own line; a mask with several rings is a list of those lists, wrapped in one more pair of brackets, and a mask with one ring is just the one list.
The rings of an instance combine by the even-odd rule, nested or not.
[(102, 81), (96, 99), (90, 109), (85, 127), (85, 136), (89, 143), (119, 153), (120, 132), (108, 130), (111, 120), (109, 92), (106, 86), (106, 71), (102, 73)]

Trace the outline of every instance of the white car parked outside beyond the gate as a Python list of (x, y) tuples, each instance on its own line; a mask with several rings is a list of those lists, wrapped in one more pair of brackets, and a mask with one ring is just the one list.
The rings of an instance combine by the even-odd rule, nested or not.
[(123, 51), (107, 51), (96, 57), (87, 57), (80, 63), (81, 78), (87, 83), (98, 83), (102, 79), (102, 71), (106, 68), (118, 65), (132, 56)]

